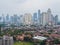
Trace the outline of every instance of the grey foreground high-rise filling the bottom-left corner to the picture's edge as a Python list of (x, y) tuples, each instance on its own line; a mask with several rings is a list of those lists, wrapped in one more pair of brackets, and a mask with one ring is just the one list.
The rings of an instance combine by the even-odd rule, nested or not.
[(3, 36), (0, 37), (0, 45), (13, 45), (14, 41), (13, 41), (13, 37), (11, 36)]

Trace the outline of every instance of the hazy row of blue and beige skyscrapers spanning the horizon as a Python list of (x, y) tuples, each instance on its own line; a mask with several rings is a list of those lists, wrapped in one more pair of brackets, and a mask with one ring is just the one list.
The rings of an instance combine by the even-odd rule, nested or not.
[(10, 16), (0, 16), (0, 22), (5, 24), (16, 24), (16, 25), (56, 25), (59, 22), (58, 15), (53, 16), (51, 9), (49, 8), (46, 12), (38, 10), (37, 12), (25, 13), (24, 15), (14, 14)]

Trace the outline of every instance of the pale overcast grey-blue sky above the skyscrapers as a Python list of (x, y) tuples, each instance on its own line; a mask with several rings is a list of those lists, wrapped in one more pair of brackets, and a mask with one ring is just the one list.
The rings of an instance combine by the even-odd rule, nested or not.
[(60, 0), (0, 0), (0, 15), (32, 13), (38, 9), (45, 12), (48, 8), (60, 16)]

